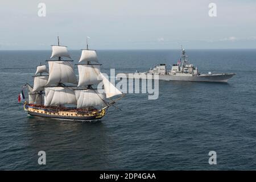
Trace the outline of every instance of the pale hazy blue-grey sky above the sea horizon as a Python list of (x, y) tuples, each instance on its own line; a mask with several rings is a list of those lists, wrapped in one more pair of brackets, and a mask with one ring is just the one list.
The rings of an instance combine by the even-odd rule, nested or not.
[(1, 0), (0, 24), (0, 50), (256, 48), (255, 0)]

